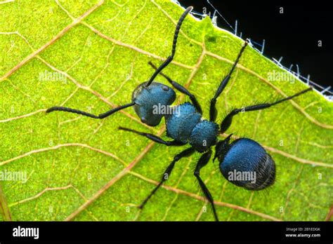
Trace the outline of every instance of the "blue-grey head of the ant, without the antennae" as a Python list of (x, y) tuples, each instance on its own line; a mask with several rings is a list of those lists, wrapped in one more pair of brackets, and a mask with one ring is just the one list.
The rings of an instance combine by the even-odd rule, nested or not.
[(141, 122), (148, 126), (157, 126), (165, 115), (163, 111), (168, 109), (176, 100), (176, 93), (171, 87), (162, 83), (147, 82), (139, 85), (132, 93), (132, 102), (135, 102), (134, 110), (141, 118)]

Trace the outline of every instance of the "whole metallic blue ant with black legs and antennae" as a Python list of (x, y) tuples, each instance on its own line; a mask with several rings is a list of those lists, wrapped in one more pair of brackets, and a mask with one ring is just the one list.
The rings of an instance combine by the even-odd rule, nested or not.
[[(248, 107), (243, 107), (241, 109), (233, 109), (230, 111), (220, 126), (215, 123), (217, 110), (216, 110), (216, 100), (219, 95), (223, 92), (223, 89), (226, 88), (228, 81), (230, 80), (231, 75), (237, 63), (242, 56), (244, 49), (249, 43), (248, 40), (244, 42), (240, 53), (237, 55), (237, 58), (230, 69), (230, 72), (224, 77), (221, 81), (218, 89), (214, 97), (210, 101), (209, 107), (209, 120), (202, 118), (202, 109), (200, 107), (199, 102), (195, 98), (195, 95), (192, 95), (190, 91), (181, 86), (176, 81), (173, 81), (162, 73), (162, 69), (164, 69), (169, 63), (173, 60), (174, 54), (176, 53), (176, 43), (178, 39), (178, 33), (181, 29), (181, 24), (185, 19), (186, 15), (192, 11), (192, 7), (188, 7), (181, 18), (178, 20), (178, 24), (176, 25), (176, 30), (174, 32), (174, 41), (172, 45), (171, 55), (166, 58), (166, 60), (160, 65), (158, 68), (149, 62), (149, 64), (155, 69), (155, 73), (152, 74), (150, 80), (141, 83), (132, 94), (132, 102), (129, 104), (124, 104), (122, 106), (116, 107), (115, 109), (111, 109), (110, 111), (105, 112), (104, 114), (100, 114), (98, 116), (94, 114), (89, 114), (84, 111), (79, 111), (77, 109), (70, 109), (67, 107), (51, 107), (47, 109), (46, 113), (50, 113), (52, 111), (67, 111), (74, 114), (81, 114), (84, 116), (88, 116), (91, 118), (106, 118), (114, 114), (115, 112), (125, 109), (127, 107), (134, 107), (136, 114), (141, 118), (142, 123), (147, 124), (148, 126), (157, 126), (162, 118), (165, 118), (166, 122), (166, 136), (170, 137), (171, 141), (163, 140), (161, 137), (157, 137), (156, 135), (152, 135), (150, 133), (143, 133), (136, 130), (132, 130), (130, 128), (119, 127), (120, 130), (126, 130), (131, 133), (136, 133), (138, 135), (142, 135), (147, 137), (148, 139), (164, 144), (167, 147), (171, 146), (182, 146), (185, 144), (190, 144), (190, 148), (181, 151), (181, 153), (176, 154), (174, 156), (174, 160), (169, 164), (169, 166), (164, 171), (163, 177), (159, 184), (151, 191), (149, 196), (145, 198), (143, 203), (139, 206), (139, 208), (143, 208), (143, 206), (148, 202), (148, 200), (152, 197), (153, 194), (161, 187), (161, 185), (169, 178), (171, 175), (171, 171), (174, 169), (174, 165), (181, 158), (188, 157), (192, 155), (195, 151), (202, 154), (200, 156), (199, 161), (195, 167), (194, 175), (199, 182), (200, 188), (204, 196), (207, 198), (209, 203), (211, 203), (211, 207), (214, 212), (214, 218), (218, 221), (218, 216), (216, 214), (216, 209), (214, 207), (214, 200), (211, 196), (209, 189), (204, 184), (204, 181), (200, 177), (200, 170), (207, 165), (209, 159), (211, 158), (211, 147), (215, 146), (215, 155), (213, 161), (218, 158), (219, 168), (222, 175), (231, 183), (237, 185), (238, 187), (243, 187), (244, 189), (259, 191), (261, 189), (265, 189), (270, 187), (275, 182), (275, 163), (271, 156), (263, 149), (263, 147), (254, 140), (249, 138), (241, 137), (237, 140), (234, 140), (230, 143), (230, 137), (226, 137), (224, 140), (218, 141), (218, 135), (226, 132), (230, 127), (233, 116), (239, 114), (240, 112), (247, 111), (256, 111), (261, 109), (267, 109), (268, 107), (272, 107), (281, 102), (285, 102), (287, 100), (291, 100), (294, 97), (297, 97), (303, 93), (308, 92), (312, 88), (308, 88), (306, 90), (302, 90), (299, 93), (296, 93), (292, 96), (285, 97), (282, 100), (278, 100), (276, 102), (271, 103), (262, 103), (255, 104)], [(178, 110), (177, 114), (159, 114), (154, 112), (154, 107), (170, 106), (176, 100), (176, 93), (174, 90), (166, 86), (162, 83), (153, 82), (157, 74), (161, 74), (164, 78), (169, 81), (169, 83), (179, 92), (188, 95), (191, 102), (185, 102), (183, 104), (177, 105), (173, 108)], [(239, 179), (239, 180), (230, 180), (228, 176), (230, 172), (254, 172), (256, 180), (249, 179)]]

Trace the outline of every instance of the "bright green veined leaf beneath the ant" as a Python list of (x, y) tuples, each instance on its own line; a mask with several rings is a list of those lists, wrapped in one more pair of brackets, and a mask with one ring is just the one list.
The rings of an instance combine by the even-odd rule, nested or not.
[[(0, 12), (0, 172), (27, 177), (1, 182), (4, 220), (214, 220), (193, 177), (199, 154), (179, 161), (166, 186), (143, 211), (136, 208), (181, 149), (117, 128), (165, 135), (163, 123), (144, 126), (131, 108), (102, 121), (45, 113), (65, 105), (100, 114), (129, 102), (133, 89), (152, 75), (148, 62), (159, 65), (170, 54), (183, 8), (162, 0), (15, 0), (1, 2)], [(164, 72), (197, 96), (207, 118), (209, 100), (242, 43), (209, 18), (188, 15), (175, 60)], [(288, 73), (248, 47), (218, 98), (218, 121), (232, 107), (306, 88), (294, 76), (279, 81), (272, 74)], [(187, 100), (177, 95), (178, 102)], [(332, 103), (313, 91), (237, 115), (227, 133), (263, 144), (277, 165), (277, 181), (265, 191), (246, 191), (209, 162), (202, 178), (220, 219), (329, 218), (332, 112)]]

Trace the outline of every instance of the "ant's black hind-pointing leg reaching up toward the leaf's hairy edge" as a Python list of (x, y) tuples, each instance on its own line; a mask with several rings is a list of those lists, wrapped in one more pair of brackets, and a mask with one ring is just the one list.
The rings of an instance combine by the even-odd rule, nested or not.
[(233, 64), (233, 67), (231, 67), (230, 72), (226, 75), (226, 77), (224, 77), (224, 79), (220, 83), (220, 86), (218, 86), (214, 97), (211, 98), (211, 104), (210, 104), (210, 107), (209, 107), (209, 121), (215, 121), (216, 120), (216, 116), (217, 116), (216, 100), (217, 100), (218, 96), (221, 95), (224, 88), (226, 88), (226, 86), (227, 86), (227, 84), (230, 80), (231, 74), (233, 74), (233, 71), (234, 71), (238, 61), (240, 61), (240, 57), (242, 56), (242, 53), (243, 53), (243, 51), (246, 48), (248, 43), (249, 43), (249, 41), (246, 40), (245, 43), (244, 43), (244, 46), (242, 46), (242, 48), (240, 49), (240, 53), (238, 53), (238, 56), (237, 56), (237, 58), (236, 58), (236, 60)]

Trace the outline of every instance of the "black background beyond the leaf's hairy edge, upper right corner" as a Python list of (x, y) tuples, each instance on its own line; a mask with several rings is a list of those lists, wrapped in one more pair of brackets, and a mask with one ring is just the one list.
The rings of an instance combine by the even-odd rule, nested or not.
[[(179, 0), (182, 6), (193, 6), (194, 11), (214, 13), (206, 0)], [(311, 81), (321, 86), (332, 85), (333, 11), (325, 1), (226, 1), (210, 0), (211, 4), (242, 32), (242, 39), (262, 43), (266, 40), (264, 55), (276, 60), (282, 56), (282, 65), (299, 65), (302, 76), (311, 75)], [(328, 2), (328, 1), (327, 1)], [(284, 13), (280, 14), (280, 7)], [(233, 32), (218, 16), (217, 25)], [(318, 40), (322, 47), (318, 47)], [(258, 48), (258, 47), (257, 47)], [(258, 48), (259, 50), (261, 48)], [(331, 89), (332, 90), (332, 89)]]

